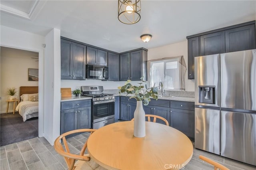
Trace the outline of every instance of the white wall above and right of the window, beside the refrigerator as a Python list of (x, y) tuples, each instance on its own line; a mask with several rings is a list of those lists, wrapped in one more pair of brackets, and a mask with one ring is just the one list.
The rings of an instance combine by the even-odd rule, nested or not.
[(186, 62), (185, 90), (195, 91), (195, 81), (188, 79), (188, 42), (173, 43), (162, 47), (148, 49), (148, 60), (183, 55)]

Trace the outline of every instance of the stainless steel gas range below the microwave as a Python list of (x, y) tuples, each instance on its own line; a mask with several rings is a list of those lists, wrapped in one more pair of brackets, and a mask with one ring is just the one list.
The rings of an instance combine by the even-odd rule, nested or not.
[(82, 95), (92, 97), (92, 128), (114, 123), (115, 97), (103, 93), (103, 86), (82, 86)]

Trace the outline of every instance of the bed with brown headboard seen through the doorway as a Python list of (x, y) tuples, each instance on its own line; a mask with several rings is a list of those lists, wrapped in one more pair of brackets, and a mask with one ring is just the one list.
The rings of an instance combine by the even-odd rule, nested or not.
[(21, 86), (20, 103), (16, 111), (22, 116), (23, 121), (38, 117), (38, 86)]

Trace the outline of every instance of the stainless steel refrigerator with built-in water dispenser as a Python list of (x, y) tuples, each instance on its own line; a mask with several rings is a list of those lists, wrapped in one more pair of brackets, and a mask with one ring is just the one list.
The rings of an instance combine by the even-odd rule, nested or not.
[(256, 166), (256, 49), (195, 57), (195, 147)]

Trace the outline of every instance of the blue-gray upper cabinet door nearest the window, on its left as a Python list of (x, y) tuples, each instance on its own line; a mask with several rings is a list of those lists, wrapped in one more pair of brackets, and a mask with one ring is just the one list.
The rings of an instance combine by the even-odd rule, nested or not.
[(130, 53), (130, 80), (142, 77), (142, 50)]

